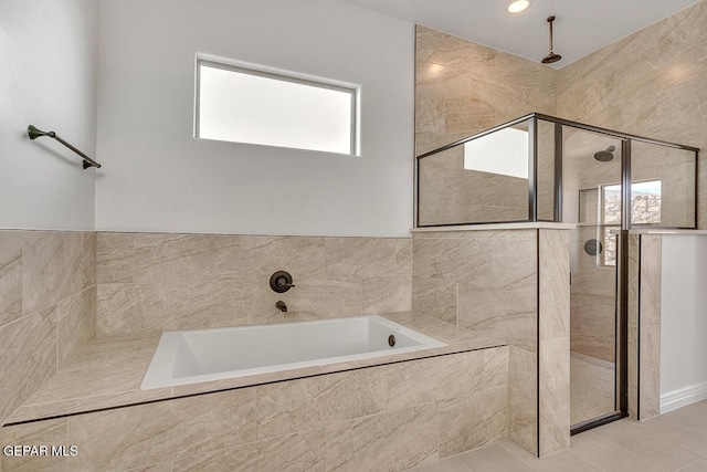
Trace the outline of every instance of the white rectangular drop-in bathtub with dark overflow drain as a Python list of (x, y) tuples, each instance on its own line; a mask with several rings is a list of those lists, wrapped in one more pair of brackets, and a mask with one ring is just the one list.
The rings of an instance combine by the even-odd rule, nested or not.
[[(389, 338), (394, 337), (394, 346)], [(325, 366), (446, 346), (369, 315), (273, 325), (165, 332), (141, 390)]]

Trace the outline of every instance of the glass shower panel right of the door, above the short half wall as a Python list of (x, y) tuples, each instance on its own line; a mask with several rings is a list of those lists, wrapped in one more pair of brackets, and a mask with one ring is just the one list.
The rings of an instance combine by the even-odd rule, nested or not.
[(632, 141), (633, 227), (695, 228), (695, 153)]

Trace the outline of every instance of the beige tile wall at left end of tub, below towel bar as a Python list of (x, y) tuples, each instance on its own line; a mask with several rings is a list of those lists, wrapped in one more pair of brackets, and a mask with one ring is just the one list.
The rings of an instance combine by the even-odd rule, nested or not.
[(0, 231), (0, 423), (96, 333), (92, 232)]

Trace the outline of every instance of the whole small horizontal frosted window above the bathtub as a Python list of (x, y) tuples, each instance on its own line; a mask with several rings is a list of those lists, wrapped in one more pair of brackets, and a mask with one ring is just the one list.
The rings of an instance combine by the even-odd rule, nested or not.
[(197, 137), (356, 155), (357, 90), (197, 62)]

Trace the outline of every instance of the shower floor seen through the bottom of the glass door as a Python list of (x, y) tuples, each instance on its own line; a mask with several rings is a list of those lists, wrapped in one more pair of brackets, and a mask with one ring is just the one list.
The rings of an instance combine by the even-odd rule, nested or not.
[[(578, 424), (614, 411), (614, 370), (610, 363), (572, 353), (570, 422)], [(587, 361), (590, 360), (590, 361)]]

